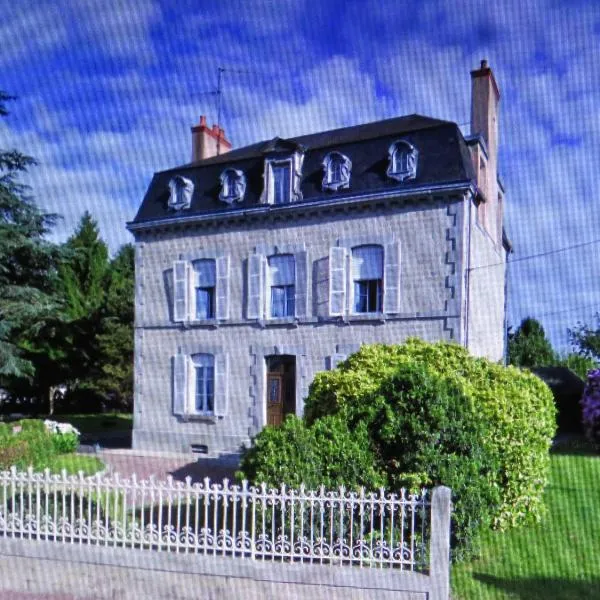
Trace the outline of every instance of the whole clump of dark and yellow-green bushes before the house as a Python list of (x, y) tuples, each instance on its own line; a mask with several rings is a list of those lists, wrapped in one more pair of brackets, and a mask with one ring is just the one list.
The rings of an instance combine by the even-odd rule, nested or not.
[(257, 436), (242, 464), (250, 479), (448, 485), (455, 557), (484, 527), (543, 514), (555, 408), (530, 373), (473, 358), (456, 344), (363, 346), (316, 376), (304, 414), (304, 423)]

